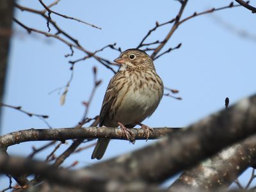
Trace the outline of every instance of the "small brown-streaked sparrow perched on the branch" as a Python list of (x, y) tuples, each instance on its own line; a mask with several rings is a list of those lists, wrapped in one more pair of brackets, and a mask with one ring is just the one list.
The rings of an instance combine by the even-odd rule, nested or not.
[[(140, 125), (147, 134), (154, 129), (141, 124), (154, 113), (163, 97), (163, 81), (157, 75), (153, 60), (145, 51), (127, 49), (114, 60), (120, 66), (111, 78), (99, 115), (99, 127), (118, 127), (127, 140), (134, 143), (132, 131)], [(110, 139), (100, 138), (92, 153), (92, 159), (101, 159)]]

